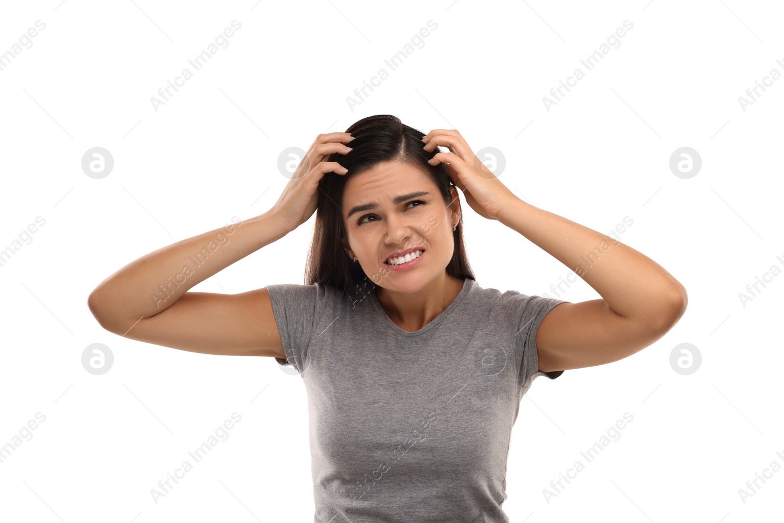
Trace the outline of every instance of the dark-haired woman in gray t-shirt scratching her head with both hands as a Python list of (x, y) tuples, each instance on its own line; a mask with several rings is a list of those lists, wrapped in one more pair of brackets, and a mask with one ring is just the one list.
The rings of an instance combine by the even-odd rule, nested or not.
[[(478, 285), (457, 188), (602, 299)], [(317, 209), (307, 285), (188, 292)], [(222, 231), (233, 241), (205, 251)], [(193, 252), (211, 252), (209, 263), (190, 267)], [(634, 354), (686, 303), (653, 260), (515, 197), (455, 130), (423, 136), (390, 115), (319, 135), (270, 211), (151, 252), (89, 297), (111, 332), (295, 367), (309, 401), (314, 521), (354, 523), (509, 521), (510, 431), (532, 381)]]

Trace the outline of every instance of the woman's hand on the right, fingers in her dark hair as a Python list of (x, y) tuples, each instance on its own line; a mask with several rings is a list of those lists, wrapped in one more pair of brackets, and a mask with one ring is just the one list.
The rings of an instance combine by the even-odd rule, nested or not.
[(422, 141), (425, 151), (437, 146), (448, 147), (448, 153), (436, 153), (428, 160), (430, 165), (445, 163), (449, 176), (463, 195), (471, 209), (488, 220), (498, 220), (499, 212), (510, 198), (515, 198), (487, 166), (480, 162), (471, 148), (455, 129), (433, 129)]

